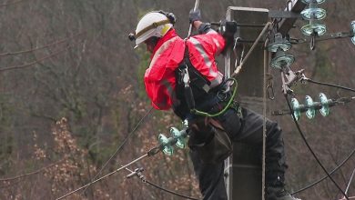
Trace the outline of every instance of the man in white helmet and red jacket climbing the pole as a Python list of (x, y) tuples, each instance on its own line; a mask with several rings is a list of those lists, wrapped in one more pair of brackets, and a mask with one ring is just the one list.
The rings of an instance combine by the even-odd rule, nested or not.
[[(188, 119), (188, 146), (204, 199), (227, 200), (223, 161), (231, 154), (231, 141), (261, 148), (263, 117), (230, 100), (233, 81), (218, 71), (215, 56), (233, 42), (233, 28), (216, 32), (201, 22), (199, 10), (191, 11), (189, 20), (199, 35), (184, 40), (173, 27), (175, 15), (149, 12), (130, 39), (136, 46), (145, 44), (151, 53), (144, 82), (152, 105), (172, 108), (182, 120)], [(284, 188), (287, 165), (281, 129), (269, 120), (266, 125), (266, 199), (299, 200)]]

